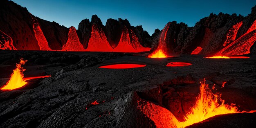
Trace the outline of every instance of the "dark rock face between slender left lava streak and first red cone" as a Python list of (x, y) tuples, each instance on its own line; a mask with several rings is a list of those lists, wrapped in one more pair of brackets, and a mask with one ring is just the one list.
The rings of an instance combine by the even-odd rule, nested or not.
[(68, 29), (54, 21), (49, 22), (40, 18), (37, 18), (37, 20), (48, 41), (49, 47), (54, 50), (61, 50), (63, 45), (67, 42)]

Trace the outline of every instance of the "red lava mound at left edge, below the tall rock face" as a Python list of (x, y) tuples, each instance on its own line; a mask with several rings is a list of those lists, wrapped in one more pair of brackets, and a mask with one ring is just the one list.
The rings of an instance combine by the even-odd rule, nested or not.
[(10, 36), (0, 30), (0, 49), (2, 50), (17, 50), (13, 46), (13, 41)]

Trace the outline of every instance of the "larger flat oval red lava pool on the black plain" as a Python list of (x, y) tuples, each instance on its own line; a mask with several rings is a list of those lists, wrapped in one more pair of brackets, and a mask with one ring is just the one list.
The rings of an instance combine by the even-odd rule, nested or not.
[(114, 65), (100, 66), (99, 68), (127, 69), (127, 68), (138, 68), (138, 67), (146, 67), (146, 65), (139, 65), (139, 64), (114, 64)]

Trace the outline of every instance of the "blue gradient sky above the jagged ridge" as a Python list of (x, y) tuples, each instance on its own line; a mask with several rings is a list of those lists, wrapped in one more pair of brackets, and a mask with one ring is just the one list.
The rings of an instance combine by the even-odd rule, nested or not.
[(78, 28), (93, 14), (106, 24), (108, 18), (127, 18), (131, 25), (142, 25), (151, 35), (167, 22), (185, 22), (194, 26), (210, 13), (237, 13), (247, 16), (256, 0), (13, 0), (35, 16)]

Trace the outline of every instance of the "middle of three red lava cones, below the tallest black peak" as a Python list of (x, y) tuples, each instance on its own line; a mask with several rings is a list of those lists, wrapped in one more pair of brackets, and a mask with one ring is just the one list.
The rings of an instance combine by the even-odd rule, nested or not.
[(92, 33), (85, 51), (90, 52), (113, 52), (103, 30), (97, 25), (92, 25)]

